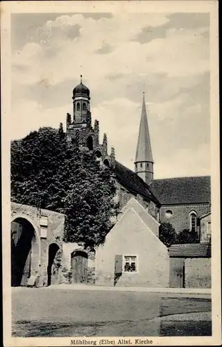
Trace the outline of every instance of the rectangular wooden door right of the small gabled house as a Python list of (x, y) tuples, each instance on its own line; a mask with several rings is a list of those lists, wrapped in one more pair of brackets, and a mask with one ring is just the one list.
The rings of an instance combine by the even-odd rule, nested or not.
[(169, 287), (185, 288), (185, 260), (170, 258)]

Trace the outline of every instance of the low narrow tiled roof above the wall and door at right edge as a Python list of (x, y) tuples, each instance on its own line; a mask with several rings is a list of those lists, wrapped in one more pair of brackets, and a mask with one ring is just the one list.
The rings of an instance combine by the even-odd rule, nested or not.
[(206, 244), (173, 244), (169, 248), (169, 257), (194, 258), (211, 257), (211, 243)]

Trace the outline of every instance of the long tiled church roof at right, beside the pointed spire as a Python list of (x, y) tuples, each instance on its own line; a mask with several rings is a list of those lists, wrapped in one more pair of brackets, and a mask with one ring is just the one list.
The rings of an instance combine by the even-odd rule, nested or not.
[(210, 176), (153, 180), (149, 187), (162, 205), (210, 203)]

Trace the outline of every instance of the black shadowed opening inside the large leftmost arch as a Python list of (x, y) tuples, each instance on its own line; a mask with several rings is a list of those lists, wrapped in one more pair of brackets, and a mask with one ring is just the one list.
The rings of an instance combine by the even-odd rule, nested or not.
[(24, 218), (11, 223), (11, 286), (25, 286), (31, 276), (32, 242), (35, 230)]

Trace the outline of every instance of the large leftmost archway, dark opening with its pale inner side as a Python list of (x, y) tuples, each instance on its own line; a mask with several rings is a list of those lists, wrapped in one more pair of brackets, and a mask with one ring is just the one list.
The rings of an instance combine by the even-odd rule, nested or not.
[(37, 228), (24, 215), (11, 221), (11, 286), (35, 283), (40, 267), (40, 240)]

